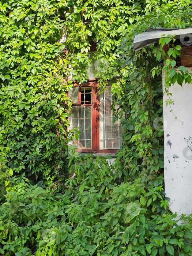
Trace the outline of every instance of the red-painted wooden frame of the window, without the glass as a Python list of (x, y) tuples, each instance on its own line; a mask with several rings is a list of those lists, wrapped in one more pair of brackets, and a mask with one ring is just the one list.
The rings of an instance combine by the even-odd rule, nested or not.
[[(99, 150), (99, 88), (98, 80), (90, 79), (87, 83), (74, 83), (75, 87), (79, 87), (78, 103), (73, 103), (72, 106), (92, 106), (91, 121), (92, 121), (92, 149), (76, 149), (82, 153), (116, 153), (118, 149), (103, 149)], [(92, 87), (92, 102), (90, 104), (81, 104), (81, 88)]]

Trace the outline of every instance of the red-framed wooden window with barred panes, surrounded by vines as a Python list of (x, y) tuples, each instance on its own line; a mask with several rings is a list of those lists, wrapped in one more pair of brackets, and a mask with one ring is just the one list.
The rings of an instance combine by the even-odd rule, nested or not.
[[(69, 116), (70, 128), (79, 127), (78, 140), (72, 144), (84, 153), (115, 153), (121, 147), (120, 120), (112, 122), (111, 86), (99, 95), (97, 80), (75, 84), (69, 97), (73, 99)], [(100, 98), (100, 103), (99, 103)]]

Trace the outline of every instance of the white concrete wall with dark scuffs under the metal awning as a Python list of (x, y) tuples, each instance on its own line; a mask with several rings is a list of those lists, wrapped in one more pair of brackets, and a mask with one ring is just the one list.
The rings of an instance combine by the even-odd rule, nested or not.
[[(192, 68), (187, 68), (192, 72)], [(163, 75), (163, 84), (164, 84)], [(192, 84), (177, 83), (169, 89), (174, 101), (173, 113), (163, 93), (163, 129), (165, 148), (165, 193), (172, 212), (192, 213)]]

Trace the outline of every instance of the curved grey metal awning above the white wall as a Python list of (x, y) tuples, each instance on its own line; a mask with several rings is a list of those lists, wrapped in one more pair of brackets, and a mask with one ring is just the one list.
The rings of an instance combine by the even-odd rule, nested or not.
[[(150, 29), (149, 29), (150, 30)], [(165, 36), (163, 36), (165, 34)], [(185, 41), (184, 45), (192, 45), (192, 28), (187, 29), (169, 29), (164, 27), (157, 27), (155, 30), (143, 32), (135, 36), (133, 41), (133, 48), (138, 51), (146, 46), (153, 45), (159, 42), (162, 37), (167, 37), (167, 35), (176, 35), (174, 38), (180, 39), (181, 44)]]

